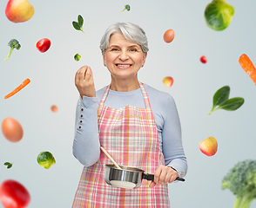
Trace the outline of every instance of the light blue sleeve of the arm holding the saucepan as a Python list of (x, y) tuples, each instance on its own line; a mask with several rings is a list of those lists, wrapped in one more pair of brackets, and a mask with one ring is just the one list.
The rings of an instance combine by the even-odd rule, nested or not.
[(184, 177), (187, 162), (182, 146), (179, 114), (170, 94), (166, 101), (164, 120), (162, 138), (165, 166), (172, 166), (179, 173), (179, 177)]

